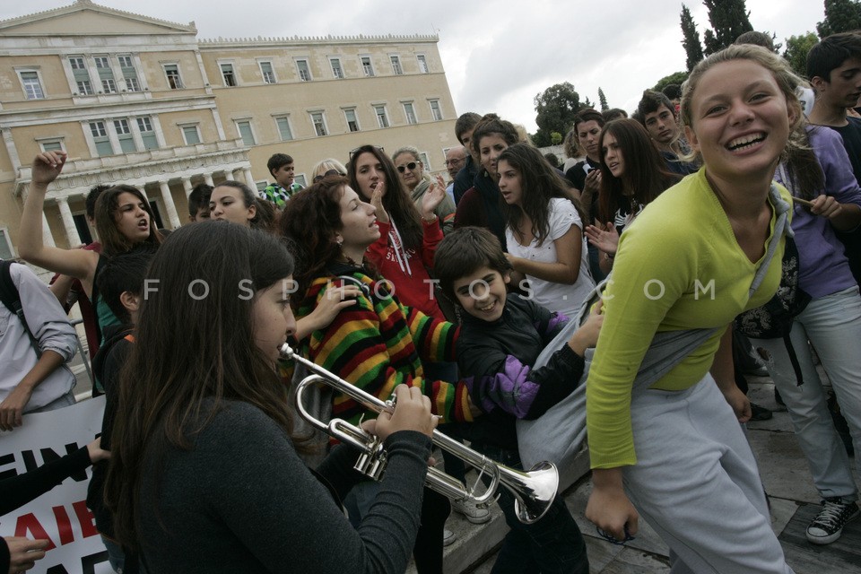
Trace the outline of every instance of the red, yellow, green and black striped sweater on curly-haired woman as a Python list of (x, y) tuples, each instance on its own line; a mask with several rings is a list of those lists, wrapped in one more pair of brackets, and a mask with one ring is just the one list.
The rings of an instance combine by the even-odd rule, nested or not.
[[(356, 276), (362, 283), (373, 284), (367, 276)], [(309, 294), (319, 300), (328, 284), (341, 283), (329, 281), (330, 278), (317, 280)], [(300, 309), (300, 315), (304, 316), (310, 310)], [(374, 295), (362, 295), (356, 305), (342, 309), (325, 330), (310, 336), (310, 359), (384, 401), (401, 383), (420, 387), (422, 393), (431, 398), (433, 413), (445, 421), (471, 421), (468, 391), (463, 383), (428, 381), (423, 377), (422, 361), (413, 344), (405, 310), (390, 296), (378, 299)], [(421, 317), (416, 319), (419, 323), (422, 323), (422, 317), (425, 320), (429, 318), (419, 315)], [(351, 398), (335, 396), (335, 416), (356, 423), (363, 413), (369, 414)]]

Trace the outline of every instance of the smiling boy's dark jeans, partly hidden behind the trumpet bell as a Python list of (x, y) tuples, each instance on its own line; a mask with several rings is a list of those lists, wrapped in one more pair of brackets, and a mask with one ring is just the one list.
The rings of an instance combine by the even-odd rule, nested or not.
[[(473, 443), (472, 448), (493, 460), (522, 469), (517, 450)], [(485, 477), (486, 478), (486, 477)], [(485, 479), (483, 479), (485, 480)], [(485, 482), (486, 483), (486, 482)], [(535, 524), (517, 520), (514, 496), (504, 486), (499, 490), (500, 509), (509, 525), (509, 534), (502, 542), (499, 556), (493, 565), (493, 574), (511, 572), (558, 572), (588, 574), (589, 560), (583, 535), (561, 493), (556, 495), (547, 514)]]

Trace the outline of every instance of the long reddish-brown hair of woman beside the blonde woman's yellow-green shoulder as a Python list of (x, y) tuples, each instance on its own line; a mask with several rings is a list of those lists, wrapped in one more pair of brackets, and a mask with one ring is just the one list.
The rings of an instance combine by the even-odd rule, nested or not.
[[(613, 176), (604, 161), (604, 137), (607, 134), (613, 135), (622, 152), (625, 170), (621, 178)], [(608, 122), (601, 130), (598, 149), (601, 150), (598, 213), (602, 223), (612, 222), (622, 204), (652, 203), (679, 179), (666, 169), (664, 158), (652, 143), (646, 128), (636, 119), (622, 118)], [(626, 191), (629, 195), (626, 195)]]

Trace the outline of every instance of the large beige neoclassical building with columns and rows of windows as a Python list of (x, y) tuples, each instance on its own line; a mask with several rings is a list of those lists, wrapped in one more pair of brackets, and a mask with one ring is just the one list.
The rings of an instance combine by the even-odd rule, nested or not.
[(30, 164), (68, 153), (49, 188), (43, 235), (95, 237), (83, 200), (124, 183), (158, 224), (187, 221), (197, 183), (272, 181), (275, 152), (307, 183), (324, 158), (364, 143), (422, 151), (444, 172), (457, 113), (436, 36), (197, 39), (187, 25), (90, 0), (0, 22), (0, 257), (14, 257)]

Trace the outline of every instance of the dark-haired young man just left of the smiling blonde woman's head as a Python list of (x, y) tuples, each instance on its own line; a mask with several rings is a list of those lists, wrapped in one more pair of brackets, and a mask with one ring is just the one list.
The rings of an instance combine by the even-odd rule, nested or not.
[(652, 143), (664, 157), (668, 170), (680, 176), (697, 170), (697, 166), (690, 161), (681, 160), (684, 153), (688, 152), (688, 146), (682, 139), (682, 129), (675, 119), (674, 105), (669, 98), (660, 91), (644, 91), (634, 117), (646, 128)]

